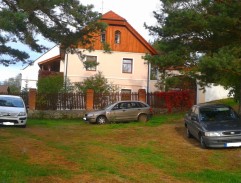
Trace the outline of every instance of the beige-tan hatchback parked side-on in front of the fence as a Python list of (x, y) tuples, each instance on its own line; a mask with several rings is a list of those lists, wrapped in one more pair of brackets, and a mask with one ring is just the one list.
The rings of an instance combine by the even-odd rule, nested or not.
[(151, 107), (141, 101), (119, 101), (103, 110), (88, 112), (84, 120), (90, 123), (104, 124), (107, 122), (121, 122), (138, 120), (146, 122), (152, 115)]

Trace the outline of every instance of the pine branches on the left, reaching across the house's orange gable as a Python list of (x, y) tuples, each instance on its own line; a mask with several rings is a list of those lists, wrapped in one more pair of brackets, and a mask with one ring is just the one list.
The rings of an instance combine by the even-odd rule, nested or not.
[(29, 59), (25, 50), (12, 43), (26, 44), (40, 53), (47, 47), (41, 45), (40, 37), (66, 48), (89, 44), (93, 33), (104, 28), (98, 22), (99, 13), (92, 9), (79, 0), (0, 0), (0, 64)]

